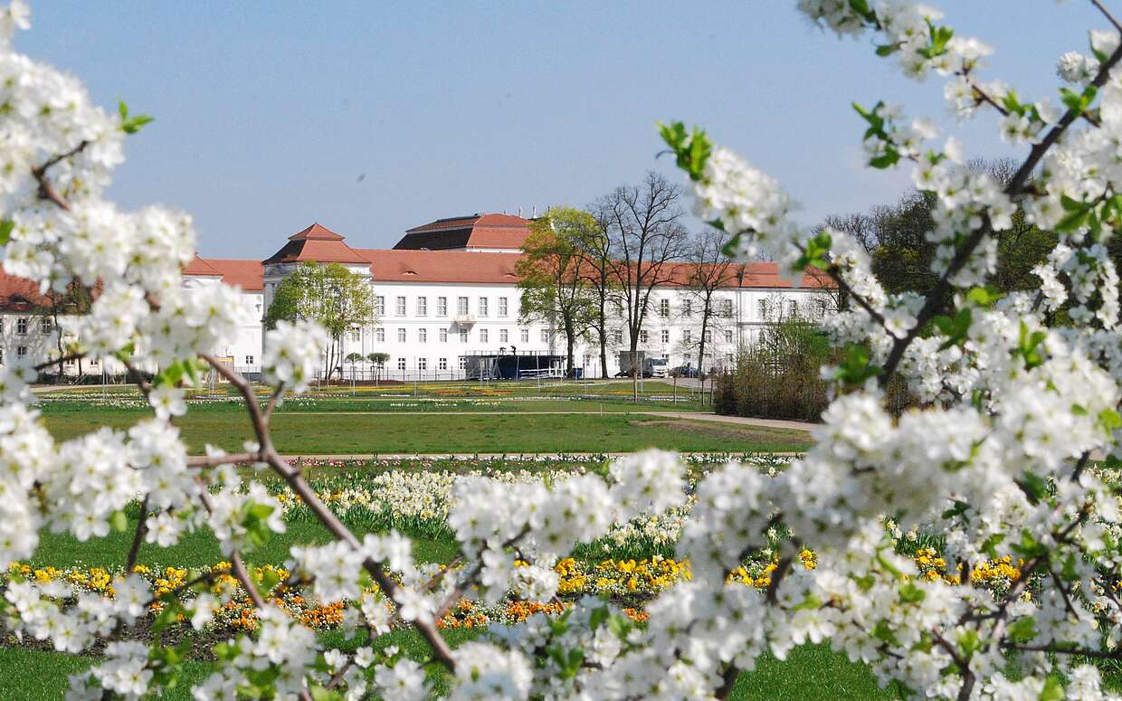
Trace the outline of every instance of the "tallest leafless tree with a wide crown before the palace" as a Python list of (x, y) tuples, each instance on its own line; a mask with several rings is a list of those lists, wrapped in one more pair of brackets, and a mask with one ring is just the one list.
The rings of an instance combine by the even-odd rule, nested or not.
[(681, 224), (682, 191), (657, 173), (647, 173), (640, 185), (619, 186), (596, 203), (596, 218), (611, 245), (611, 275), (625, 305), (632, 378), (636, 380), (638, 341), (646, 321), (651, 293), (673, 279), (688, 234)]

